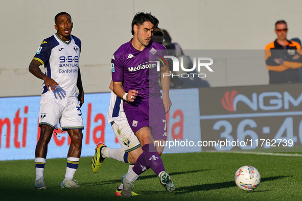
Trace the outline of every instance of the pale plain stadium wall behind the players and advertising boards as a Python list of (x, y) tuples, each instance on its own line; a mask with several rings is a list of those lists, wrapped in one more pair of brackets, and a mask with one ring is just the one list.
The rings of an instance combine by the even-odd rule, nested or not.
[[(138, 11), (154, 14), (159, 26), (185, 50), (262, 51), (275, 39), (276, 20), (288, 22), (288, 38), (302, 35), (301, 6), (302, 2), (297, 0), (3, 0), (0, 2), (0, 97), (40, 94), (42, 81), (29, 73), (28, 66), (42, 40), (55, 33), (54, 16), (61, 11), (72, 15), (73, 34), (82, 40), (80, 67), (84, 91), (96, 93), (109, 91), (111, 56), (132, 37), (131, 20)], [(240, 59), (239, 56), (219, 60), (221, 69), (204, 80), (211, 87), (268, 83), (264, 56), (259, 54), (255, 63), (255, 58), (247, 58), (249, 65), (234, 67), (232, 62)]]

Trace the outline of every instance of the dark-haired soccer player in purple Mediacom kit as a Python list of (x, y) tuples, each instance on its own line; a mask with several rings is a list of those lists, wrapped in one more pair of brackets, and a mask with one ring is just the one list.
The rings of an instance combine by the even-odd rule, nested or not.
[(157, 58), (162, 58), (167, 51), (164, 45), (151, 41), (158, 22), (151, 13), (136, 13), (131, 24), (133, 38), (123, 44), (111, 60), (113, 92), (124, 99), (127, 120), (143, 149), (132, 170), (123, 175), (121, 195), (124, 197), (131, 196), (133, 181), (149, 168), (158, 175), (167, 191), (174, 190), (170, 175), (160, 158), (163, 147), (154, 144), (154, 140), (167, 139), (165, 114), (172, 105), (169, 97), (170, 78), (163, 76), (169, 73), (167, 65), (160, 67), (160, 97)]

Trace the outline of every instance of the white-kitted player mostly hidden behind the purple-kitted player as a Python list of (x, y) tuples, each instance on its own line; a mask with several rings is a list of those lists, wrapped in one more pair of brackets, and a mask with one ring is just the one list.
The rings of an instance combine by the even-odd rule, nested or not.
[[(109, 88), (111, 90), (113, 89), (112, 81)], [(138, 156), (143, 153), (143, 150), (140, 141), (138, 141), (129, 126), (121, 98), (117, 97), (113, 91), (111, 91), (107, 122), (111, 124), (113, 132), (122, 148), (109, 148), (105, 144), (99, 143), (96, 148), (95, 156), (92, 157), (91, 160), (92, 171), (98, 172), (105, 158), (112, 158), (124, 163), (130, 163), (128, 168), (129, 172), (133, 168)], [(115, 195), (121, 196), (122, 189), (123, 184), (118, 186)], [(138, 194), (131, 192), (131, 195)]]

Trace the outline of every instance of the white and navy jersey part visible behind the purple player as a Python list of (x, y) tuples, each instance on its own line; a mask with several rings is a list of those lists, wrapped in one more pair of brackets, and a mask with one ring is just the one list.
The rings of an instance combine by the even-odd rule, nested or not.
[(123, 108), (123, 101), (120, 97), (115, 95), (113, 91), (111, 91), (110, 97), (110, 105), (107, 113), (107, 122), (117, 122), (118, 124), (122, 123), (122, 121), (127, 121), (126, 114)]

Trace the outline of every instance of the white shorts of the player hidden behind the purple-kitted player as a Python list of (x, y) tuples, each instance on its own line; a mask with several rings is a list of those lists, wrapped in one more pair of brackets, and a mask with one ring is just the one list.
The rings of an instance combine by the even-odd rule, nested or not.
[(133, 131), (128, 124), (127, 119), (125, 121), (111, 122), (111, 126), (115, 136), (117, 136), (125, 153), (131, 152), (141, 146), (140, 141), (134, 135)]

